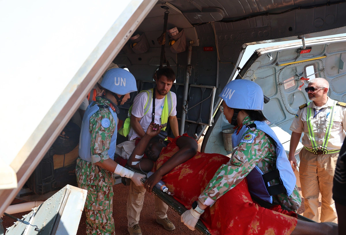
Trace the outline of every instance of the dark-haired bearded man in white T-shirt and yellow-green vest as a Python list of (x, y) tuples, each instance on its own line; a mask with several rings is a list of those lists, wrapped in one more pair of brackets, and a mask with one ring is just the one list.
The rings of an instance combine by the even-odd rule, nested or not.
[[(170, 92), (174, 80), (175, 73), (171, 68), (159, 69), (156, 72), (156, 87), (153, 90), (142, 91), (135, 97), (131, 110), (129, 140), (143, 137), (149, 124), (152, 122), (152, 97), (154, 91), (155, 123), (164, 125), (169, 121), (174, 137), (179, 135), (176, 118), (176, 95), (174, 92)], [(148, 100), (148, 97), (151, 100)], [(138, 157), (141, 158), (141, 156)], [(142, 234), (138, 223), (145, 191), (146, 189), (143, 186), (138, 187), (131, 181), (127, 200), (128, 231), (131, 235)], [(156, 222), (163, 225), (166, 230), (172, 231), (175, 229), (175, 226), (167, 218), (167, 209), (168, 206), (155, 196)]]

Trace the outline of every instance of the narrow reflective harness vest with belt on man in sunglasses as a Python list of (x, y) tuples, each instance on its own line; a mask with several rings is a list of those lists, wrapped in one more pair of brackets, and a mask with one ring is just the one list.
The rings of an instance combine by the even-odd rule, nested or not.
[[(308, 105), (311, 102), (308, 103)], [(331, 131), (331, 126), (333, 125), (333, 121), (334, 121), (334, 106), (336, 104), (336, 101), (334, 101), (334, 105), (330, 107), (330, 121), (329, 124), (327, 126), (326, 129), (326, 135), (325, 135), (325, 140), (321, 146), (321, 151), (323, 154), (327, 154), (327, 153), (332, 153), (331, 151), (335, 151), (335, 150), (331, 150), (331, 151), (327, 151), (327, 145), (328, 145), (328, 141), (329, 141), (329, 136), (330, 136), (330, 131)], [(312, 108), (308, 108), (307, 110), (307, 125), (308, 125), (308, 131), (309, 131), (309, 138), (311, 141), (311, 145), (312, 145), (312, 153), (317, 154), (318, 151), (318, 145), (316, 144), (316, 140), (315, 140), (315, 135), (313, 134), (313, 126), (311, 123), (311, 119), (313, 118), (314, 115), (312, 115)], [(307, 149), (309, 151), (309, 149)]]

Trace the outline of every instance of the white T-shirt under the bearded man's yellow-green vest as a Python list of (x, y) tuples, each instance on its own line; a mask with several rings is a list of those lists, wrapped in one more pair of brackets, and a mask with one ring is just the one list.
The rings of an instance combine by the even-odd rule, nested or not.
[[(176, 95), (174, 92), (172, 94), (172, 112), (170, 116), (176, 116)], [(140, 92), (134, 99), (132, 105), (131, 115), (142, 118), (139, 121), (140, 126), (142, 126), (144, 132), (147, 131), (149, 124), (152, 121), (152, 110), (153, 110), (153, 101), (150, 101), (149, 111), (144, 115), (144, 107), (148, 99), (147, 92)], [(149, 101), (148, 101), (149, 102)], [(161, 115), (163, 110), (163, 105), (165, 102), (165, 98), (155, 99), (155, 123), (161, 123)], [(135, 130), (131, 127), (129, 132), (129, 140), (133, 140), (134, 138), (139, 137)]]

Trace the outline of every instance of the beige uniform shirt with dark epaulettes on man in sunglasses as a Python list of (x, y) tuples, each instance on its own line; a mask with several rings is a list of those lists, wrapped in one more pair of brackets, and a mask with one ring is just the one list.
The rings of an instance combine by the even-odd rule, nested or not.
[[(291, 124), (290, 130), (297, 133), (303, 133), (302, 144), (308, 148), (312, 148), (312, 144), (309, 137), (309, 130), (307, 124), (307, 113), (308, 108), (315, 109), (312, 110), (312, 115), (317, 113), (314, 118), (312, 118), (311, 123), (313, 126), (313, 134), (315, 135), (316, 144), (319, 146), (323, 145), (326, 138), (326, 130), (330, 121), (330, 107), (333, 106), (335, 100), (328, 97), (327, 103), (322, 107), (317, 107), (313, 101), (302, 109), (299, 109), (297, 115), (294, 116), (293, 122)], [(320, 112), (318, 112), (322, 109)], [(327, 144), (327, 150), (338, 150), (341, 148), (345, 136), (346, 136), (346, 107), (335, 105), (334, 107), (334, 120), (331, 126), (329, 141)], [(319, 147), (320, 149), (320, 147)]]

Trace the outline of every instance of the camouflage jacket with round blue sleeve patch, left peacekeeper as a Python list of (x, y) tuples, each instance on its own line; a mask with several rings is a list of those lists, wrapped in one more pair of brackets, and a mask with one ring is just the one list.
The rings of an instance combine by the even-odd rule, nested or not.
[[(94, 105), (110, 106), (110, 102), (101, 97), (96, 97)], [(110, 120), (109, 127), (104, 128), (101, 125), (101, 120), (103, 118), (108, 118)], [(100, 108), (90, 117), (89, 123), (89, 130), (91, 133), (91, 158), (93, 162), (103, 162), (109, 159), (108, 149), (110, 147), (111, 137), (113, 134), (117, 134), (116, 121), (109, 109)], [(77, 159), (76, 175), (80, 184), (99, 186), (113, 185), (112, 172), (104, 170), (91, 162), (84, 161), (81, 158)]]

